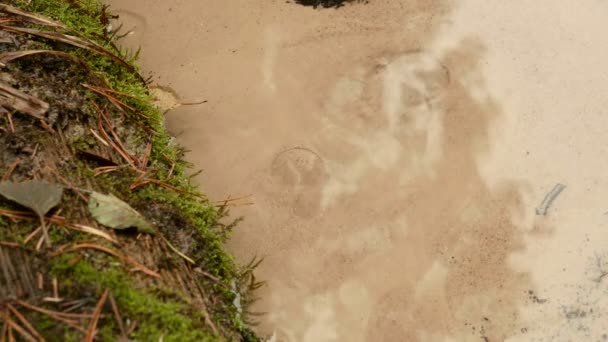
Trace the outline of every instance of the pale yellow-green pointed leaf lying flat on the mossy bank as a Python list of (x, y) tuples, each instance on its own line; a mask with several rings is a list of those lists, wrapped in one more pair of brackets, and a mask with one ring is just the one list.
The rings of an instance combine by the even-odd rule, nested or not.
[(89, 212), (97, 222), (109, 228), (136, 227), (140, 232), (156, 233), (152, 224), (140, 213), (112, 194), (104, 195), (93, 191), (89, 198)]

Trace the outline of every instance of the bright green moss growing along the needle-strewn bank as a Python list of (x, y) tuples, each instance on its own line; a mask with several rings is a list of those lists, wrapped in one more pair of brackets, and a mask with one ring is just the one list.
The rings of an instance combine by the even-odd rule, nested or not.
[[(24, 10), (32, 11), (60, 21), (69, 26), (74, 32), (86, 37), (113, 51), (125, 60), (132, 62), (126, 51), (114, 47), (104, 32), (100, 21), (102, 6), (98, 0), (32, 0), (17, 3)], [(120, 97), (127, 105), (133, 107), (139, 116), (127, 117), (126, 123), (145, 127), (148, 131), (140, 129), (139, 133), (131, 136), (131, 145), (140, 145), (149, 141), (150, 133), (153, 131), (152, 152), (150, 155), (150, 170), (148, 176), (179, 189), (184, 193), (169, 191), (158, 185), (146, 185), (135, 191), (130, 191), (129, 186), (135, 181), (139, 174), (128, 169), (120, 169), (111, 174), (103, 174), (94, 177), (91, 168), (84, 162), (77, 162), (72, 174), (65, 175), (71, 180), (87, 179), (97, 191), (112, 193), (132, 204), (159, 203), (164, 207), (174, 208), (187, 222), (200, 234), (198, 238), (204, 248), (198, 249), (198, 255), (190, 255), (208, 273), (220, 279), (219, 282), (206, 284), (206, 292), (214, 296), (214, 307), (209, 308), (215, 322), (222, 324), (233, 332), (241, 334), (246, 341), (259, 340), (243, 323), (244, 318), (232, 305), (235, 294), (231, 285), (238, 283), (242, 278), (242, 270), (236, 264), (234, 258), (228, 254), (223, 243), (228, 237), (230, 229), (217, 228), (217, 222), (223, 213), (218, 212), (215, 206), (208, 200), (202, 198), (198, 190), (191, 184), (186, 175), (190, 164), (183, 158), (183, 150), (172, 143), (172, 138), (164, 126), (162, 113), (152, 105), (148, 89), (141, 82), (136, 73), (127, 70), (111, 59), (91, 51), (69, 47), (63, 44), (49, 44), (49, 48), (61, 49), (69, 52), (85, 61), (89, 68), (98, 76), (106, 80), (112, 89), (129, 94)], [(135, 70), (139, 70), (135, 66)], [(83, 80), (83, 82), (86, 80)], [(87, 96), (91, 99), (99, 99), (99, 96), (90, 92)], [(94, 110), (88, 106), (82, 108), (82, 116), (95, 117)], [(145, 118), (142, 120), (142, 117)], [(145, 132), (145, 133), (144, 133)], [(86, 139), (75, 139), (70, 147), (72, 149), (87, 149), (94, 141)], [(144, 144), (145, 145), (145, 144)], [(173, 165), (174, 164), (174, 165)], [(173, 169), (171, 177), (169, 173)], [(64, 207), (76, 208), (78, 203), (76, 196), (64, 199)], [(82, 203), (80, 203), (82, 204)], [(77, 211), (67, 210), (65, 213), (69, 218), (77, 217)], [(7, 220), (0, 217), (0, 232), (4, 226), (11, 225)], [(33, 224), (31, 225), (33, 226)], [(11, 241), (22, 241), (31, 231), (30, 225), (22, 225), (23, 231), (19, 234), (11, 233)], [(181, 227), (173, 227), (180, 229)], [(10, 231), (10, 230), (7, 230)], [(0, 233), (1, 234), (1, 233)], [(4, 234), (2, 235), (4, 236)], [(53, 242), (61, 245), (66, 242), (75, 242), (86, 235), (66, 232), (62, 229), (54, 229), (51, 233)], [(217, 340), (209, 332), (203, 322), (201, 313), (192, 312), (192, 305), (180, 299), (179, 295), (169, 295), (166, 289), (138, 288), (133, 278), (129, 276), (126, 268), (118, 265), (116, 260), (108, 258), (103, 266), (98, 265), (99, 260), (81, 260), (75, 265), (70, 265), (73, 255), (63, 255), (52, 260), (52, 272), (62, 281), (62, 287), (73, 290), (86, 290), (95, 292), (99, 297), (103, 289), (109, 288), (120, 307), (123, 317), (137, 320), (138, 328), (132, 338), (141, 341), (158, 340), (163, 337), (165, 341), (211, 341)], [(96, 256), (97, 258), (97, 256)], [(103, 257), (101, 257), (103, 259)], [(105, 260), (105, 259), (104, 259)], [(109, 266), (108, 266), (109, 265)], [(171, 300), (165, 300), (170, 297)], [(116, 327), (111, 320), (104, 321), (100, 325), (99, 334), (103, 340), (115, 338)], [(41, 323), (42, 324), (42, 323)], [(43, 324), (44, 325), (44, 324)], [(52, 329), (51, 325), (49, 329)], [(46, 330), (46, 329), (45, 329)], [(67, 336), (64, 336), (67, 338)]]

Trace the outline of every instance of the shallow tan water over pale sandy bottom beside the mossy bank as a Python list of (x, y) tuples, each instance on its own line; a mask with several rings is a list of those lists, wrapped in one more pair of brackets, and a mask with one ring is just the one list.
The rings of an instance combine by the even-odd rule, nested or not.
[(261, 334), (608, 340), (608, 2), (110, 3), (198, 183), (252, 195)]

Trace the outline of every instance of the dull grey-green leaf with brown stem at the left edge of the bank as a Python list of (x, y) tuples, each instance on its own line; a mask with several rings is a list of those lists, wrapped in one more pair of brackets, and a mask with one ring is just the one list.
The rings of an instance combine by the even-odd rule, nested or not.
[(37, 180), (22, 183), (1, 182), (0, 195), (32, 209), (38, 216), (43, 217), (59, 204), (63, 187)]

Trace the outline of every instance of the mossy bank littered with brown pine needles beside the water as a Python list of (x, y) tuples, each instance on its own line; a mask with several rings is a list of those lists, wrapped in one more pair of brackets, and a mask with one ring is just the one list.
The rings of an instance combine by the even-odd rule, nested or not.
[[(258, 340), (245, 323), (259, 286), (255, 263), (239, 267), (223, 249), (233, 225), (191, 185), (135, 56), (106, 30), (105, 7), (97, 0), (5, 4), (0, 178), (66, 190), (47, 215), (50, 248), (39, 221), (0, 196), (2, 337)], [(20, 109), (11, 92), (48, 108), (38, 108), (42, 115)], [(90, 191), (129, 203), (158, 233), (99, 225), (87, 211)]]

